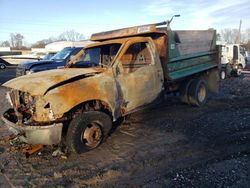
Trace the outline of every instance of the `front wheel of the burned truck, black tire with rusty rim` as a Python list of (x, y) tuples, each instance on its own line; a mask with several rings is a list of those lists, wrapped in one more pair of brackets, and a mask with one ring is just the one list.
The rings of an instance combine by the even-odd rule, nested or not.
[(98, 147), (108, 136), (111, 118), (97, 111), (84, 112), (72, 119), (66, 135), (69, 152), (84, 153)]

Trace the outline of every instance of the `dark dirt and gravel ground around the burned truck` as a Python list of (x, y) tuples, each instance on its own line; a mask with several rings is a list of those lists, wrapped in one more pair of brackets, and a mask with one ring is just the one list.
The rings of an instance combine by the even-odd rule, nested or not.
[[(0, 122), (0, 138), (7, 134)], [(202, 108), (169, 96), (82, 155), (53, 157), (56, 148), (45, 147), (26, 158), (18, 147), (0, 139), (0, 187), (248, 187), (250, 77), (221, 81)]]

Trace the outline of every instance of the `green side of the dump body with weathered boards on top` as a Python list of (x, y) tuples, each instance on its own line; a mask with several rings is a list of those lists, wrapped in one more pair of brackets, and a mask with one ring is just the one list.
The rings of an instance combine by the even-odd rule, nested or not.
[(167, 32), (165, 79), (175, 81), (218, 67), (215, 30)]

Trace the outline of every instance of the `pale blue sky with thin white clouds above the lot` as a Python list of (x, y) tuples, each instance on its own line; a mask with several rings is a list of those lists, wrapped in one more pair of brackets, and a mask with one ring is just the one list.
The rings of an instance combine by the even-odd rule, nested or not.
[(0, 41), (21, 33), (28, 43), (66, 30), (93, 32), (161, 22), (172, 29), (250, 28), (249, 0), (0, 0)]

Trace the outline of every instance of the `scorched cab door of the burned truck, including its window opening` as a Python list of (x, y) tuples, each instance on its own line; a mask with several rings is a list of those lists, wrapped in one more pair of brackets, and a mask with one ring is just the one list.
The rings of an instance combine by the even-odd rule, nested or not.
[(118, 57), (117, 89), (125, 111), (151, 103), (163, 89), (163, 72), (153, 43), (133, 41)]

